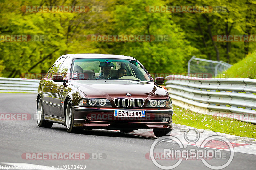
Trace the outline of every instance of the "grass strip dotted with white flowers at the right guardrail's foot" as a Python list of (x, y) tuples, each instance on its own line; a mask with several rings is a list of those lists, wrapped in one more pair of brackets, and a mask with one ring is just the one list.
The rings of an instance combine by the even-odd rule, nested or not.
[(199, 114), (173, 105), (173, 123), (192, 126), (197, 129), (211, 129), (241, 137), (255, 138), (256, 125), (226, 117)]

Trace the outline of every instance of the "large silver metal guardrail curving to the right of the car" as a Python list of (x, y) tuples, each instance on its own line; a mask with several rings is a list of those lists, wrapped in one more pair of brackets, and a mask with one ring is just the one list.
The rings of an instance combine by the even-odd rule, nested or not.
[(172, 100), (193, 111), (256, 123), (256, 79), (166, 77)]

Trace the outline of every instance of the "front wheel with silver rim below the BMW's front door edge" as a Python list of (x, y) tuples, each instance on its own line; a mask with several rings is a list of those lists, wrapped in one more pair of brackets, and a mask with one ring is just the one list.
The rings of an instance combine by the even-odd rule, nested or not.
[(66, 114), (65, 114), (65, 125), (69, 133), (81, 133), (84, 129), (74, 127), (74, 114), (73, 107), (70, 100), (67, 102)]

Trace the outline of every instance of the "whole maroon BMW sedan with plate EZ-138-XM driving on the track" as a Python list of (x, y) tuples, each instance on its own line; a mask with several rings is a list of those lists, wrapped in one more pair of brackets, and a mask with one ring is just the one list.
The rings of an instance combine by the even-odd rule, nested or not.
[(172, 100), (135, 58), (109, 54), (62, 55), (41, 79), (37, 124), (66, 126), (68, 132), (153, 129), (156, 137), (172, 130)]

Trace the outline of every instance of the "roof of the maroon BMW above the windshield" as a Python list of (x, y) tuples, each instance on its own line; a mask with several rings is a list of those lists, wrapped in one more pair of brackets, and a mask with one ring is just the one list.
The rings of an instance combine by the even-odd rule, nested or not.
[(125, 55), (115, 55), (115, 54), (65, 54), (62, 56), (69, 56), (70, 58), (114, 58), (114, 59), (127, 59), (135, 60), (135, 58)]

